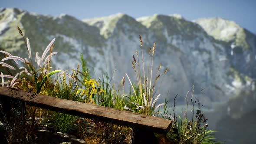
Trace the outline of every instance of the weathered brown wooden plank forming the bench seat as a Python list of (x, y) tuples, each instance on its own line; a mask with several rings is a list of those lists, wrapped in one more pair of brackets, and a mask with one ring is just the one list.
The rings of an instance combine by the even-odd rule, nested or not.
[(171, 128), (171, 120), (148, 115), (141, 115), (130, 111), (121, 111), (98, 105), (86, 104), (66, 99), (53, 98), (37, 94), (31, 100), (31, 93), (7, 87), (0, 87), (0, 96), (11, 97), (26, 101), (26, 105), (45, 108), (69, 115), (105, 121), (130, 128), (144, 129), (156, 133), (167, 134)]

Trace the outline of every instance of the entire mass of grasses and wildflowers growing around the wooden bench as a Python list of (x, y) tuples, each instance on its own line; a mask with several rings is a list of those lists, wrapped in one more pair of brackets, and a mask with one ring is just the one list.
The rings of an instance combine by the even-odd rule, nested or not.
[[(51, 71), (50, 60), (56, 52), (52, 52), (54, 41), (53, 39), (46, 47), (43, 55), (39, 57), (36, 52), (35, 61), (32, 60), (30, 41), (24, 38), (20, 28), (18, 28), (20, 35), (23, 37), (29, 59), (22, 59), (18, 56), (12, 56), (10, 53), (0, 51), (7, 55), (2, 61), (12, 59), (16, 63), (16, 67), (0, 62), (1, 68), (9, 73), (4, 75), (1, 72), (1, 86), (7, 85), (11, 88), (18, 88), (30, 93), (31, 100), (36, 98), (36, 94), (49, 95), (56, 98), (63, 98), (72, 101), (79, 101), (89, 103), (92, 105), (101, 105), (110, 108), (117, 108), (124, 111), (133, 111), (144, 115), (153, 115), (161, 118), (171, 119), (173, 121), (173, 128), (167, 135), (155, 134), (159, 143), (174, 143), (174, 144), (213, 144), (217, 143), (214, 140), (212, 130), (207, 130), (207, 118), (203, 115), (199, 100), (190, 98), (193, 105), (192, 120), (187, 118), (187, 111), (185, 115), (179, 119), (175, 117), (175, 98), (174, 98), (174, 117), (169, 112), (168, 101), (157, 105), (160, 94), (156, 94), (156, 84), (160, 78), (161, 65), (156, 70), (157, 75), (153, 74), (153, 56), (155, 51), (155, 43), (150, 48), (148, 53), (148, 61), (144, 61), (143, 42), (140, 38), (141, 57), (139, 59), (139, 52), (136, 50), (136, 56), (131, 60), (132, 68), (134, 69), (137, 82), (132, 83), (129, 76), (126, 74), (129, 84), (131, 85), (130, 93), (125, 93), (125, 77), (120, 82), (118, 89), (111, 84), (111, 79), (108, 73), (102, 76), (102, 79), (96, 81), (91, 79), (89, 70), (86, 66), (86, 61), (81, 54), (81, 70), (79, 66), (77, 69), (72, 69), (72, 74), (67, 71), (53, 70)], [(49, 52), (49, 55), (46, 54)], [(18, 62), (20, 61), (20, 62)], [(23, 65), (21, 65), (23, 64)], [(8, 69), (6, 69), (8, 68)], [(17, 68), (19, 68), (17, 70)], [(142, 70), (142, 72), (141, 72)], [(166, 74), (165, 68), (163, 75)], [(14, 71), (14, 74), (13, 72)], [(52, 75), (57, 74), (55, 78)], [(12, 76), (15, 75), (15, 76)], [(5, 82), (6, 79), (12, 79)], [(194, 89), (193, 89), (194, 91)], [(189, 100), (186, 97), (187, 105)], [(198, 110), (194, 111), (198, 105)], [(0, 103), (2, 106), (3, 103)], [(19, 105), (10, 104), (12, 113), (10, 117), (1, 114), (1, 121), (5, 126), (6, 142), (12, 143), (33, 143), (37, 141), (37, 133), (41, 121), (55, 126), (56, 131), (69, 132), (72, 128), (77, 129), (77, 135), (84, 139), (85, 142), (91, 144), (108, 144), (108, 143), (126, 143), (131, 141), (131, 128), (121, 125), (110, 124), (106, 122), (95, 121), (88, 118), (80, 118), (73, 115), (66, 115), (59, 112), (48, 111), (33, 106), (27, 106), (21, 102)], [(163, 107), (163, 111), (160, 111)], [(2, 108), (2, 107), (0, 107)], [(39, 120), (38, 120), (39, 118)]]

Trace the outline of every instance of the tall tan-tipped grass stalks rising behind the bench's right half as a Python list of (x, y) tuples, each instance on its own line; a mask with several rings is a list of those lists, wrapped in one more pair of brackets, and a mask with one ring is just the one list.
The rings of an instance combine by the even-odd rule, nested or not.
[[(135, 51), (136, 57), (133, 55), (133, 60), (131, 60), (131, 65), (132, 65), (132, 68), (134, 69), (135, 76), (137, 79), (138, 91), (135, 88), (136, 85), (133, 85), (129, 76), (125, 74), (126, 77), (128, 78), (129, 83), (131, 84), (133, 95), (135, 95), (135, 99), (136, 99), (135, 101), (131, 101), (131, 102), (135, 102), (134, 106), (136, 107), (137, 110), (140, 109), (141, 113), (145, 115), (157, 115), (161, 112), (157, 111), (157, 113), (155, 113), (156, 111), (155, 108), (159, 108), (160, 106), (166, 104), (166, 103), (161, 103), (156, 106), (155, 104), (158, 98), (160, 97), (160, 94), (154, 98), (154, 88), (155, 88), (156, 82), (160, 77), (160, 74), (158, 74), (158, 72), (161, 69), (161, 65), (158, 67), (157, 76), (153, 81), (152, 74), (153, 74), (153, 57), (154, 57), (155, 43), (153, 45), (152, 52), (151, 52), (151, 48), (149, 50), (148, 64), (147, 64), (148, 66), (147, 68), (145, 68), (144, 55), (143, 55), (143, 41), (141, 39), (141, 36), (139, 36), (139, 39), (141, 44), (141, 57), (142, 57), (142, 69), (143, 69), (142, 74), (141, 74), (141, 65), (140, 65), (139, 55), (137, 50)], [(147, 69), (147, 74), (145, 72), (145, 69)], [(164, 75), (166, 72), (167, 72), (167, 69), (165, 70)], [(125, 107), (125, 109), (131, 109), (131, 108)]]

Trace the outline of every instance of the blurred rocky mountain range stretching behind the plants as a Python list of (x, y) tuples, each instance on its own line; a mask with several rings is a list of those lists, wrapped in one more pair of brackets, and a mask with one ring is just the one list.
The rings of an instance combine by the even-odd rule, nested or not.
[(139, 35), (145, 63), (149, 48), (156, 42), (153, 72), (160, 63), (161, 72), (166, 67), (170, 69), (160, 78), (159, 93), (165, 98), (169, 91), (171, 101), (176, 94), (191, 93), (194, 84), (194, 95), (211, 108), (213, 102), (227, 101), (240, 89), (251, 90), (254, 85), (256, 36), (228, 20), (190, 22), (177, 15), (135, 20), (118, 13), (81, 21), (69, 15), (53, 17), (16, 8), (0, 10), (0, 48), (28, 57), (16, 26), (30, 39), (33, 56), (37, 51), (42, 53), (56, 38), (53, 51), (58, 54), (52, 60), (56, 69), (76, 68), (82, 52), (96, 76), (108, 72), (117, 83), (125, 73), (136, 82), (131, 59), (136, 49), (141, 52)]

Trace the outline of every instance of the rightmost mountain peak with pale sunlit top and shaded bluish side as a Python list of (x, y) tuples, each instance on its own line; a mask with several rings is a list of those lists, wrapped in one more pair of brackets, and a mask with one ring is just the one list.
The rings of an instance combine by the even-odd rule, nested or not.
[[(194, 21), (215, 39), (228, 43), (226, 53), (231, 65), (239, 72), (256, 78), (256, 36), (234, 21), (222, 18), (204, 18)], [(243, 66), (241, 66), (243, 65)]]

